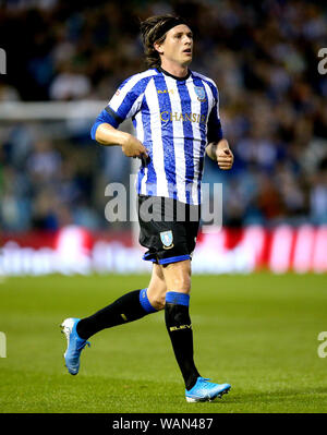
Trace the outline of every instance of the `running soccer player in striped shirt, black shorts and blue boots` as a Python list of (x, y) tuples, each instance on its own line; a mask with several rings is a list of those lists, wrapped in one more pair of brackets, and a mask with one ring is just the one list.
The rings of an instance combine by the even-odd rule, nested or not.
[[(213, 400), (230, 389), (204, 378), (193, 359), (189, 313), (191, 257), (199, 223), (205, 153), (222, 170), (233, 155), (222, 137), (218, 89), (213, 80), (189, 69), (193, 34), (180, 17), (157, 15), (141, 24), (147, 71), (125, 80), (97, 118), (92, 137), (120, 145), (140, 157), (136, 181), (140, 243), (153, 262), (147, 288), (130, 291), (86, 318), (66, 318), (64, 353), (69, 373), (80, 370), (81, 351), (94, 334), (165, 310), (173, 352), (190, 402)], [(136, 137), (118, 130), (132, 118)], [(149, 216), (152, 218), (149, 218)]]

